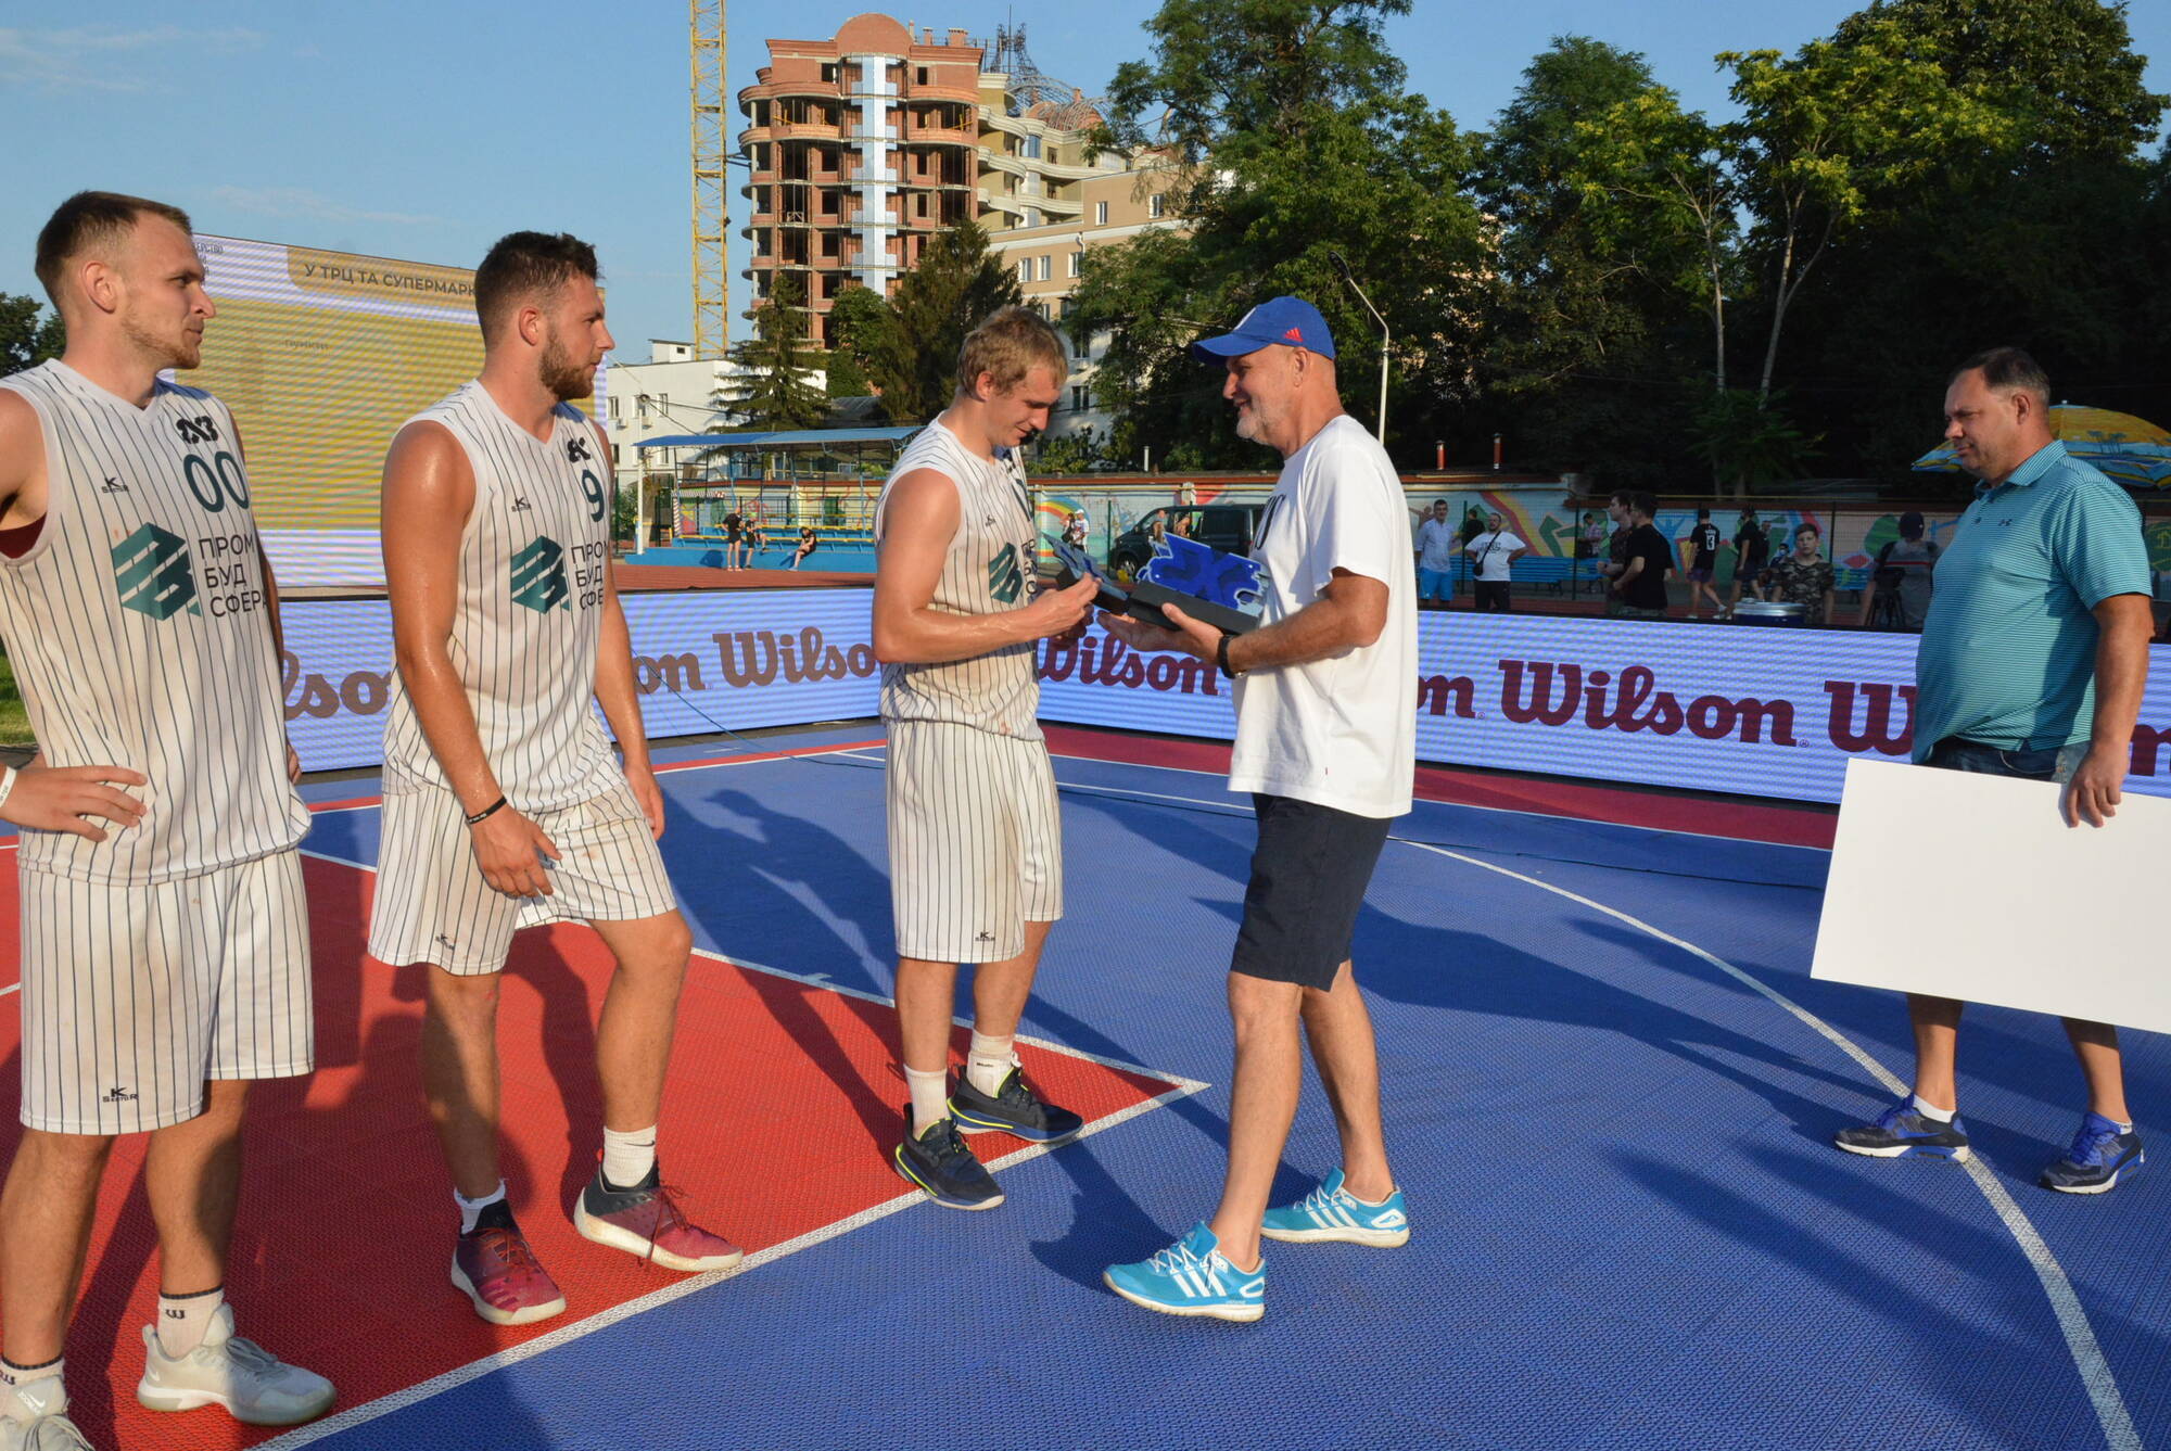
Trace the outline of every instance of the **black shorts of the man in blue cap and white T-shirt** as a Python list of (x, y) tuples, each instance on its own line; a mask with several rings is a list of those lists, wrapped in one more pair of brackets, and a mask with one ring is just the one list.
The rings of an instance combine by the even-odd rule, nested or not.
[(1229, 971), (1326, 991), (1348, 962), (1392, 823), (1281, 795), (1253, 795), (1250, 806), (1259, 845)]

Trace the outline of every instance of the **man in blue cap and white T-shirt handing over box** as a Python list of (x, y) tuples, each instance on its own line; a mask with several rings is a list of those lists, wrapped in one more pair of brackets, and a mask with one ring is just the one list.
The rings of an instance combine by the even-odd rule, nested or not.
[[(1409, 1238), (1350, 938), (1387, 825), (1409, 810), (1418, 610), (1402, 484), (1387, 452), (1342, 413), (1318, 308), (1261, 302), (1229, 337), (1192, 343), (1192, 356), (1227, 365), (1237, 434), (1285, 460), (1250, 550), (1266, 567), (1266, 623), (1224, 636), (1181, 610), (1166, 610), (1175, 630), (1101, 621), (1135, 649), (1179, 649), (1237, 682), (1229, 788), (1253, 793), (1259, 847), (1229, 967), (1229, 1175), (1209, 1221), (1151, 1260), (1109, 1269), (1105, 1282), (1146, 1310), (1257, 1321), (1261, 1236), (1376, 1247)], [(1268, 1208), (1303, 1086), (1300, 1038), (1333, 1101), (1342, 1166), (1296, 1203)]]

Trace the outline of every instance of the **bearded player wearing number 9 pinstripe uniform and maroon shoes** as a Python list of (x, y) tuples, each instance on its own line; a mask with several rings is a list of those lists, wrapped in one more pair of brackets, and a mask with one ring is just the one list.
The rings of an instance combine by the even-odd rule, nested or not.
[(610, 445), (571, 406), (612, 345), (595, 278), (584, 241), (499, 239), (475, 269), (482, 376), (384, 460), (399, 671), (369, 954), (430, 964), (423, 1093), (460, 1210), (452, 1284), (493, 1325), (564, 1310), (497, 1173), (497, 977), (517, 928), (584, 919), (617, 958), (595, 1032), (604, 1151), (575, 1227), (675, 1271), (740, 1258), (656, 1162), (693, 934), (656, 851), (664, 804), (610, 580)]

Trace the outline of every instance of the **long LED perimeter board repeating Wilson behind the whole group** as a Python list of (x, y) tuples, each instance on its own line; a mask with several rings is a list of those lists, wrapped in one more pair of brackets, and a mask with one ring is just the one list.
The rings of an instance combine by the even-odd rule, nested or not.
[[(627, 595), (651, 736), (877, 712), (868, 593)], [(310, 771), (376, 765), (380, 600), (284, 608), (287, 730)], [(1539, 615), (1418, 617), (1418, 760), (1837, 802), (1850, 756), (1906, 760), (1915, 636)], [(1040, 719), (1229, 741), (1229, 682), (1105, 630), (1040, 645)], [(2151, 671), (2128, 788), (2171, 795), (2171, 669)]]

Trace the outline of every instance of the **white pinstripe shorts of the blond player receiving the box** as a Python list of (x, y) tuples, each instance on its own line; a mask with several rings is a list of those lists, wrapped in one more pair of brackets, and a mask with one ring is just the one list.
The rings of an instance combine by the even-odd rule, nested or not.
[(1064, 834), (1044, 741), (886, 721), (897, 951), (1003, 962), (1064, 914)]

